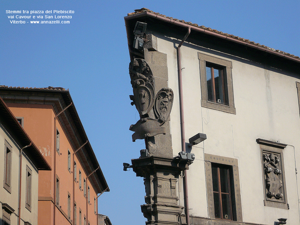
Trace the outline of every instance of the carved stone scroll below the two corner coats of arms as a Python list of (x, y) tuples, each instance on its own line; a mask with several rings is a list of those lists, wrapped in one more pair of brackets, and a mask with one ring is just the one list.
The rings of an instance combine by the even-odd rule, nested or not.
[(142, 118), (136, 124), (131, 125), (129, 130), (134, 131), (132, 141), (152, 137), (157, 134), (166, 134), (166, 128), (160, 126), (157, 119)]

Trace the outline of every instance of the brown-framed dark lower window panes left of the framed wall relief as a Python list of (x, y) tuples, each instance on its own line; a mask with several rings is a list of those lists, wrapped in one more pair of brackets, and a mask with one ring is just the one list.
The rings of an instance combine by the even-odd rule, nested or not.
[(215, 218), (232, 220), (232, 167), (211, 164)]

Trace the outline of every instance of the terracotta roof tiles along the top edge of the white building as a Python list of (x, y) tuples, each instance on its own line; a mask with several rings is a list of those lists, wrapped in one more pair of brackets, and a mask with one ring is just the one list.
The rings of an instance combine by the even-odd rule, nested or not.
[(182, 22), (182, 23), (189, 24), (189, 25), (192, 25), (192, 26), (195, 26), (195, 27), (199, 27), (199, 28), (202, 28), (202, 29), (211, 31), (211, 32), (215, 32), (215, 33), (217, 33), (217, 34), (225, 35), (225, 36), (230, 37), (230, 38), (235, 38), (235, 39), (238, 39), (238, 40), (240, 40), (240, 41), (244, 41), (244, 42), (248, 42), (248, 43), (251, 43), (251, 44), (255, 44), (255, 45), (259, 46), (259, 47), (262, 47), (262, 48), (265, 48), (265, 49), (269, 49), (269, 50), (274, 51), (274, 52), (279, 52), (279, 53), (281, 53), (281, 54), (288, 55), (288, 56), (293, 57), (293, 58), (300, 59), (299, 56), (295, 56), (295, 55), (289, 54), (289, 53), (287, 53), (287, 52), (283, 52), (283, 51), (280, 51), (280, 50), (276, 50), (276, 49), (274, 49), (274, 48), (270, 48), (270, 47), (267, 47), (267, 46), (265, 46), (265, 45), (261, 45), (261, 44), (259, 44), (259, 43), (255, 43), (254, 41), (249, 41), (248, 39), (240, 38), (240, 37), (235, 36), (235, 35), (229, 35), (229, 34), (227, 34), (227, 33), (223, 33), (223, 32), (221, 32), (221, 31), (217, 31), (217, 30), (211, 29), (211, 28), (209, 28), (209, 27), (198, 26), (198, 24), (196, 24), (196, 23), (185, 22), (184, 20), (179, 20), (179, 19), (173, 19), (173, 17), (161, 15), (160, 13), (155, 13), (155, 12), (153, 12), (152, 10), (149, 10), (149, 9), (147, 9), (147, 8), (135, 9), (134, 11), (135, 11), (134, 13), (128, 13), (128, 16), (131, 16), (131, 15), (134, 15), (134, 14), (139, 14), (139, 13), (144, 13), (144, 12), (149, 12), (149, 13), (153, 13), (153, 14), (158, 15), (158, 16), (163, 16), (163, 17), (165, 17), (165, 18), (168, 18), (168, 19), (171, 19), (171, 20), (174, 20), (174, 21), (177, 21), (177, 22)]

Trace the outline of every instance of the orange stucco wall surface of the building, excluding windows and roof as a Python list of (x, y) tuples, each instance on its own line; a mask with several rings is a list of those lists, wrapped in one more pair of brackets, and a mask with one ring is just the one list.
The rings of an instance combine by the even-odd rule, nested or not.
[[(53, 176), (59, 178), (59, 205), (56, 207), (55, 221), (58, 224), (70, 224), (74, 219), (73, 211), (73, 182), (74, 199), (76, 202), (76, 217), (79, 224), (79, 208), (82, 211), (82, 223), (84, 215), (86, 216), (86, 198), (83, 195), (83, 179), (89, 174), (85, 173), (81, 161), (74, 155), (76, 162), (76, 181), (73, 181), (73, 153), (77, 149), (73, 149), (70, 139), (59, 120), (56, 120), (56, 128), (54, 130), (54, 109), (52, 105), (45, 104), (22, 104), (8, 103), (12, 113), (17, 117), (24, 118), (24, 129), (29, 134), (35, 145), (40, 149), (44, 158), (52, 167), (52, 171), (40, 171), (39, 173), (39, 224), (53, 224)], [(59, 131), (59, 153), (54, 151), (54, 131)], [(68, 151), (70, 152), (70, 170), (68, 168)], [(81, 151), (81, 150), (80, 150)], [(56, 171), (54, 172), (54, 157), (56, 154)], [(81, 184), (79, 189), (79, 170), (81, 171)], [(87, 182), (90, 188), (90, 204), (88, 204), (88, 221), (91, 225), (97, 223), (97, 216), (94, 213), (94, 197), (97, 193), (90, 182)], [(68, 220), (68, 193), (70, 193), (70, 220)], [(49, 215), (52, 214), (52, 216)], [(50, 219), (51, 217), (51, 219)]]

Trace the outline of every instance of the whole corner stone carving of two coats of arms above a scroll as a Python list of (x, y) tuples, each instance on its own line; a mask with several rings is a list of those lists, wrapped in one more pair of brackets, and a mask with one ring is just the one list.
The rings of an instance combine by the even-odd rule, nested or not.
[[(144, 59), (134, 58), (129, 64), (129, 74), (134, 95), (130, 95), (131, 105), (135, 105), (141, 119), (129, 130), (134, 131), (132, 141), (166, 134), (162, 127), (170, 116), (173, 105), (171, 88), (161, 88), (155, 96), (155, 84), (152, 71)], [(152, 113), (149, 113), (151, 110)], [(154, 113), (153, 113), (154, 112)], [(155, 115), (150, 118), (149, 115)]]

